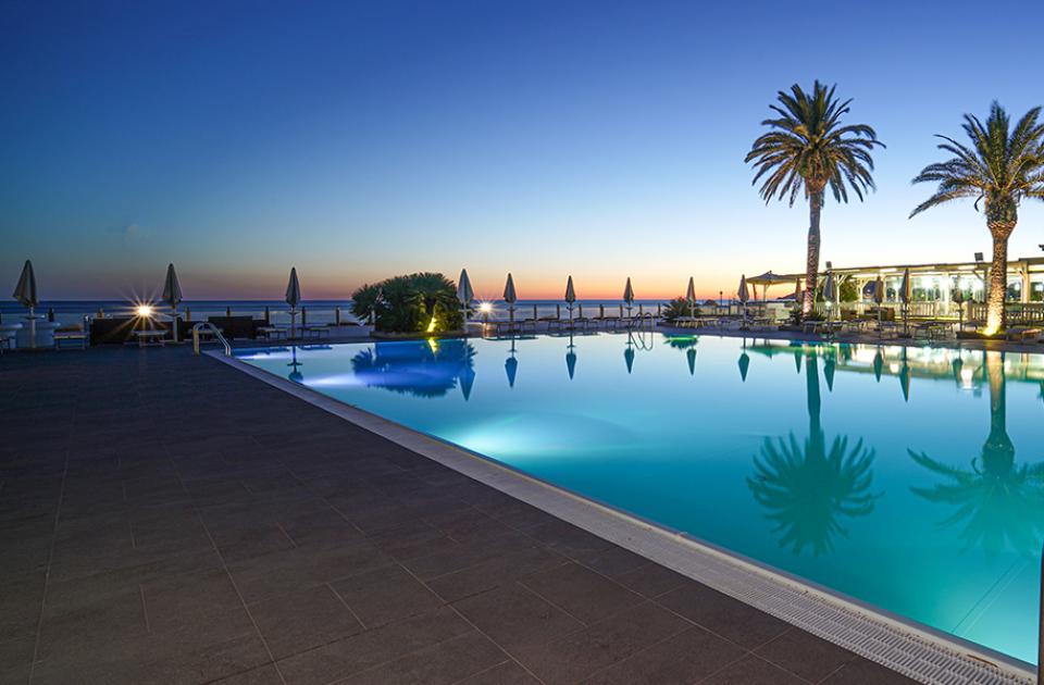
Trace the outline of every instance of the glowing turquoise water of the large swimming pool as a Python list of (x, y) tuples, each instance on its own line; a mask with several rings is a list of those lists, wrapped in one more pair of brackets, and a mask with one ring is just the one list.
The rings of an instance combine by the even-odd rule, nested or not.
[(237, 352), (1028, 662), (1044, 357), (660, 334)]

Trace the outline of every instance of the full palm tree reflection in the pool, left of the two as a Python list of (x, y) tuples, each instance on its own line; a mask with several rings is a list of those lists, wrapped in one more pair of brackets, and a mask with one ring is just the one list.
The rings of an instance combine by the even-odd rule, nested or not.
[[(801, 350), (796, 350), (801, 354)], [(808, 400), (808, 438), (767, 438), (754, 458), (755, 476), (747, 478), (754, 498), (776, 523), (780, 546), (800, 555), (832, 552), (838, 535), (847, 536), (843, 518), (866, 516), (879, 495), (870, 493), (874, 452), (858, 440), (838, 436), (828, 449), (820, 422), (821, 397), (817, 351), (804, 352)]]

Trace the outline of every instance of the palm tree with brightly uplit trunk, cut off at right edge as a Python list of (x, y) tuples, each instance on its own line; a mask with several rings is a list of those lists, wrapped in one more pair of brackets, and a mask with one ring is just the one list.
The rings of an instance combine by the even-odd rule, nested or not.
[(939, 145), (954, 157), (929, 164), (913, 183), (937, 183), (935, 195), (918, 204), (910, 216), (960, 198), (982, 202), (986, 227), (993, 237), (990, 295), (986, 307), (987, 335), (1004, 329), (1004, 298), (1008, 278), (1008, 238), (1019, 221), (1022, 198), (1044, 199), (1044, 124), (1037, 123), (1041, 108), (1026, 113), (1009, 132), (1008, 113), (997, 102), (990, 107), (985, 125), (965, 114), (964, 129), (971, 147), (947, 136)]

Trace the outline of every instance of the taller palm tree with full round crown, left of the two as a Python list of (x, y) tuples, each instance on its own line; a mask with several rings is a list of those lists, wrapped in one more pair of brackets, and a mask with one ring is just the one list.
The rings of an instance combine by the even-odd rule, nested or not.
[(790, 196), (791, 207), (804, 191), (808, 199), (808, 254), (805, 272), (805, 298), (801, 314), (812, 312), (816, 279), (819, 274), (819, 216), (829, 187), (838, 202), (848, 201), (848, 189), (862, 200), (873, 189), (874, 147), (884, 147), (878, 134), (866, 124), (842, 125), (852, 100), (834, 98), (836, 86), (818, 80), (812, 92), (791, 86), (791, 92), (778, 94), (779, 104), (769, 108), (779, 114), (761, 125), (772, 130), (754, 141), (744, 161), (754, 162), (757, 173), (751, 185), (768, 175), (759, 192), (768, 204), (773, 198)]

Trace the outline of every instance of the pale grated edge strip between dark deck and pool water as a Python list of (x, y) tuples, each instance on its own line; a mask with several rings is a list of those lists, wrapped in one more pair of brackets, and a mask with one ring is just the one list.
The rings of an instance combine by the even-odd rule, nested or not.
[[(365, 341), (359, 341), (365, 342)], [(358, 342), (356, 342), (358, 344)], [(1032, 664), (916, 623), (684, 532), (543, 481), (448, 440), (206, 352), (319, 409), (534, 506), (630, 551), (923, 683), (1035, 683)]]

